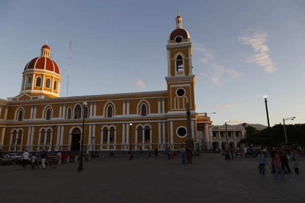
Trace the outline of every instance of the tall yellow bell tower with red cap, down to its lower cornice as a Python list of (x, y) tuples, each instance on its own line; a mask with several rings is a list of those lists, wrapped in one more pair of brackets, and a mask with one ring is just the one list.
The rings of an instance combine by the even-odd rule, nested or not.
[(165, 78), (168, 91), (168, 113), (179, 114), (187, 110), (195, 111), (195, 75), (192, 72), (192, 41), (187, 30), (182, 28), (182, 18), (175, 19), (176, 28), (167, 41), (168, 75)]

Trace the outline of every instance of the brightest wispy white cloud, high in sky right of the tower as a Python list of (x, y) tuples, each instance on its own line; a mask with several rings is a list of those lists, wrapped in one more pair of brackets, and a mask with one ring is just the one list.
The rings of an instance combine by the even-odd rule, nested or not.
[(267, 53), (269, 47), (266, 45), (267, 41), (266, 32), (256, 32), (250, 37), (239, 37), (238, 41), (245, 45), (251, 45), (257, 54), (247, 58), (247, 62), (255, 62), (261, 67), (265, 67), (264, 71), (267, 73), (274, 73), (277, 71), (274, 66), (270, 55)]

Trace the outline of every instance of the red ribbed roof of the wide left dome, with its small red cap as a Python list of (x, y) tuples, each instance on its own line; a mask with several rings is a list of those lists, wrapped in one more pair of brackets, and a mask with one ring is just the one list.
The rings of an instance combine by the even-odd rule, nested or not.
[[(48, 45), (44, 45), (44, 46), (49, 47)], [(40, 57), (34, 58), (31, 61), (29, 61), (25, 65), (24, 71), (26, 71), (28, 69), (47, 70), (47, 71), (55, 72), (58, 75), (60, 75), (58, 65), (52, 59), (50, 59), (48, 57), (44, 57), (44, 56), (40, 56)]]

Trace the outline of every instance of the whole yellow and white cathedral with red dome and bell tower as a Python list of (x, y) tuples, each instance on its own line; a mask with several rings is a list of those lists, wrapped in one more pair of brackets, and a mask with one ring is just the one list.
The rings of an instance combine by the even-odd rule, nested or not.
[(89, 150), (179, 149), (187, 139), (187, 103), (195, 149), (198, 132), (211, 146), (212, 122), (196, 112), (191, 38), (182, 18), (175, 20), (164, 91), (59, 97), (62, 77), (46, 43), (25, 65), (20, 94), (0, 99), (0, 149), (75, 151), (82, 135)]

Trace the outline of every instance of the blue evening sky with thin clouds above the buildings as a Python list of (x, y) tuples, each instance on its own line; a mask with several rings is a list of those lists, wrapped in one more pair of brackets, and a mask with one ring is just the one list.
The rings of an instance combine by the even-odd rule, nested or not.
[(305, 1), (1, 1), (0, 98), (48, 41), (69, 96), (166, 90), (177, 9), (193, 42), (195, 103), (213, 124), (305, 122)]

